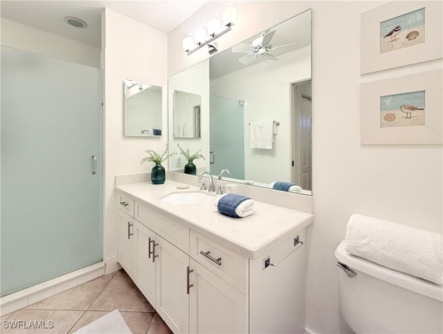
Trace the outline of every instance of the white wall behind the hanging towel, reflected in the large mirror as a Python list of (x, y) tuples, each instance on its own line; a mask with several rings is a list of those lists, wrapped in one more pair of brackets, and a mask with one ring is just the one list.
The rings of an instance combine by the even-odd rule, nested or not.
[[(290, 89), (292, 82), (311, 78), (311, 48), (305, 46), (278, 59), (228, 73), (211, 80), (210, 87), (211, 94), (244, 100), (244, 178), (267, 184), (291, 180)], [(272, 150), (250, 148), (248, 124), (266, 119), (280, 122)]]

